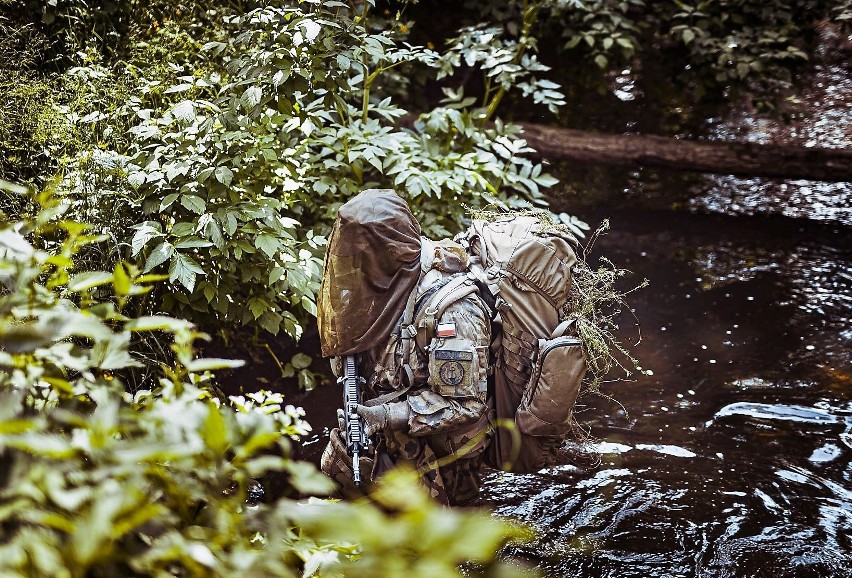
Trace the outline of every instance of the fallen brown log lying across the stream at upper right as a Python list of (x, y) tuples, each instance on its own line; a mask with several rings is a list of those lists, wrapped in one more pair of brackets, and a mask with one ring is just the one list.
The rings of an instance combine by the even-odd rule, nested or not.
[(521, 123), (522, 138), (549, 160), (659, 167), (741, 177), (852, 182), (852, 150), (603, 134)]

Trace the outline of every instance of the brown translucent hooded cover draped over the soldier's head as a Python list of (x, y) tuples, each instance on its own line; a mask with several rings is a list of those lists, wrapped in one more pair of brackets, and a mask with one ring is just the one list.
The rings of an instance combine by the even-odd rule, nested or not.
[(361, 192), (337, 213), (317, 318), (324, 356), (384, 343), (420, 278), (420, 225), (390, 189)]

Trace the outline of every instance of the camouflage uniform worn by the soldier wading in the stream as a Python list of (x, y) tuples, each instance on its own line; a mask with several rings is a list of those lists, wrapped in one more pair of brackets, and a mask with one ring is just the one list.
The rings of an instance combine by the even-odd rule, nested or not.
[[(432, 270), (420, 282), (422, 295), (445, 277)], [(405, 463), (421, 473), (421, 481), (440, 503), (469, 503), (479, 493), (483, 451), (490, 437), (488, 391), (490, 321), (476, 294), (451, 304), (438, 319), (446, 337), (433, 337), (427, 351), (412, 347), (408, 363), (413, 387), (400, 399), (409, 407), (408, 430), (381, 431), (371, 468), (375, 479), (394, 465)], [(365, 400), (403, 389), (400, 379), (401, 340), (391, 335), (384, 346), (361, 356), (359, 374), (367, 377)], [(340, 358), (332, 359), (342, 374)], [(440, 461), (440, 465), (438, 462)], [(351, 486), (351, 458), (338, 428), (322, 460), (322, 469), (344, 487)], [(369, 471), (369, 470), (367, 470)]]

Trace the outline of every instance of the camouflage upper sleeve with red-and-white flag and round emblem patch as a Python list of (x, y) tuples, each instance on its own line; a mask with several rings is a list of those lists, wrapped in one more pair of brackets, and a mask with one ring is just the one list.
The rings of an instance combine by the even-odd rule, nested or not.
[(477, 297), (448, 307), (436, 333), (428, 352), (428, 389), (408, 397), (411, 435), (465, 427), (487, 411), (491, 326)]

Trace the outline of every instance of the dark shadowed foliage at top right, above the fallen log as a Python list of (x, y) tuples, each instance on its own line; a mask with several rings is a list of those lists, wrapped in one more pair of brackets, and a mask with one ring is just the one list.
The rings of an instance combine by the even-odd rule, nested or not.
[[(626, 73), (637, 79), (644, 102), (664, 113), (747, 98), (758, 110), (789, 114), (795, 110), (795, 73), (813, 58), (820, 30), (848, 31), (852, 20), (846, 0), (463, 4), (466, 12), (454, 15), (457, 21), (498, 22), (509, 34), (523, 31), (521, 37), (548, 46), (543, 60), (553, 63), (553, 79), (570, 105), (588, 105), (583, 99), (594, 91), (611, 92), (614, 79)], [(565, 114), (582, 125), (570, 110)]]

